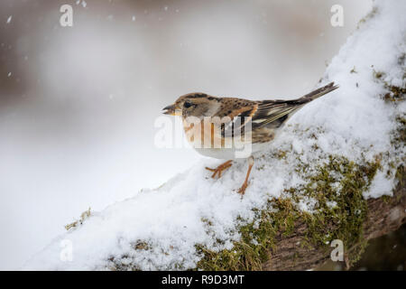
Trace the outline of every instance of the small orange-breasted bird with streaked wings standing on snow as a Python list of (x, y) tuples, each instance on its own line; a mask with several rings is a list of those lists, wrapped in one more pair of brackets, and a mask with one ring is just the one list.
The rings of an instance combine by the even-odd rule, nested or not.
[[(264, 150), (288, 119), (310, 101), (337, 89), (334, 82), (309, 94), (291, 100), (248, 100), (243, 98), (217, 98), (206, 93), (189, 93), (178, 98), (163, 114), (182, 117), (185, 135), (192, 147), (209, 157), (228, 160), (217, 168), (206, 167), (212, 178), (239, 158), (236, 152), (242, 145), (250, 144), (248, 171), (245, 182), (238, 190), (244, 195), (254, 165), (252, 154)], [(241, 157), (241, 156), (240, 156)]]

